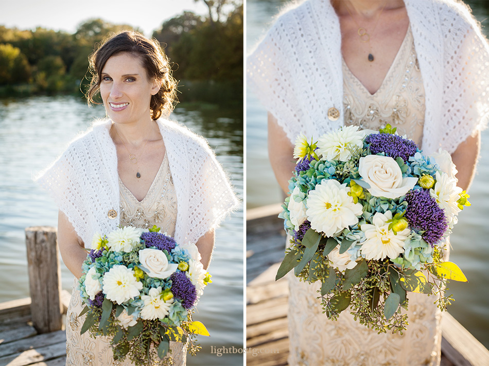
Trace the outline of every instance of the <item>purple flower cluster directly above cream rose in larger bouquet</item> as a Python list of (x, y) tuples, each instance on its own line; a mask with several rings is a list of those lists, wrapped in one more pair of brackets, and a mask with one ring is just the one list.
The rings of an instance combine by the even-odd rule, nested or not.
[(365, 138), (365, 143), (370, 145), (372, 154), (383, 152), (393, 159), (402, 158), (405, 163), (410, 156), (414, 156), (417, 149), (417, 145), (411, 140), (392, 133), (372, 133)]

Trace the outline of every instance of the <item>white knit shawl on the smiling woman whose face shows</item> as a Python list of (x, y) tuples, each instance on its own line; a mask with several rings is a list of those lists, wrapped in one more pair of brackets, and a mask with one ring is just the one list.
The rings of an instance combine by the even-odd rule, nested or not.
[[(86, 247), (94, 233), (117, 228), (119, 182), (117, 153), (104, 121), (73, 141), (36, 178), (73, 224)], [(238, 201), (214, 153), (204, 138), (174, 121), (158, 121), (177, 193), (177, 242), (195, 243), (236, 208)], [(117, 218), (108, 212), (115, 210)]]

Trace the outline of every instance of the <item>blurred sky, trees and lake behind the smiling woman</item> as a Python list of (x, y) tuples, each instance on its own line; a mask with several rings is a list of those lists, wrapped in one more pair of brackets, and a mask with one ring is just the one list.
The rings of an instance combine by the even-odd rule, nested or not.
[[(207, 6), (207, 5), (209, 6)], [(31, 180), (79, 131), (105, 115), (82, 91), (88, 56), (109, 32), (155, 37), (179, 80), (170, 116), (207, 138), (243, 199), (243, 3), (232, 0), (0, 0), (0, 302), (29, 296), (24, 229), (57, 225), (57, 207)], [(213, 283), (195, 320), (211, 337), (188, 365), (242, 364), (243, 211), (216, 233)], [(62, 265), (62, 287), (73, 275)]]

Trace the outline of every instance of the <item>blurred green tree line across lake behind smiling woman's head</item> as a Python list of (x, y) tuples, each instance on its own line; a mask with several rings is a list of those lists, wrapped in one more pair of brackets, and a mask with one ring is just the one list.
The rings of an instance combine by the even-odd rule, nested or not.
[[(207, 16), (185, 11), (165, 21), (152, 37), (170, 59), (180, 100), (242, 101), (242, 1), (202, 1), (209, 8)], [(141, 31), (102, 19), (83, 22), (73, 34), (0, 25), (0, 96), (85, 92), (94, 46), (125, 29)]]

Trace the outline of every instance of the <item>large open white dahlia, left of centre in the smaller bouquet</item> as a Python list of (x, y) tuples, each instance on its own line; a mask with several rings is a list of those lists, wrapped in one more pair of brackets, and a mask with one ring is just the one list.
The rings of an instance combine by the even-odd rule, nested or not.
[(107, 299), (122, 304), (139, 296), (143, 284), (137, 281), (134, 270), (122, 265), (115, 265), (103, 275), (102, 290)]

